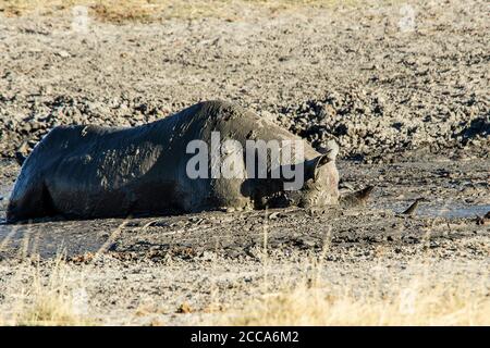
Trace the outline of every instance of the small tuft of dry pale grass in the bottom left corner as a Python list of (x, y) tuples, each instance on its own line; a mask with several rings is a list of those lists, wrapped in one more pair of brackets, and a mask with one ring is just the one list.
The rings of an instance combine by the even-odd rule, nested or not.
[[(58, 258), (41, 274), (39, 264), (27, 266), (26, 278), (13, 299), (11, 315), (0, 315), (7, 325), (82, 326), (94, 324), (85, 311), (86, 294), (81, 290), (83, 279), (73, 279), (69, 265)], [(1, 318), (3, 316), (3, 318)], [(7, 318), (5, 318), (7, 316)]]

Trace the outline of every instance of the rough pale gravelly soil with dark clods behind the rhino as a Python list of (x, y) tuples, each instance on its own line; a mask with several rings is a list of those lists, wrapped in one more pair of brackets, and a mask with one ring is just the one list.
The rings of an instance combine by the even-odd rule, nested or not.
[[(235, 100), (345, 156), (488, 152), (485, 1), (304, 10), (154, 25), (0, 22), (1, 153), (65, 123), (134, 125)], [(27, 149), (26, 149), (27, 148)], [(468, 152), (468, 149), (465, 149)]]

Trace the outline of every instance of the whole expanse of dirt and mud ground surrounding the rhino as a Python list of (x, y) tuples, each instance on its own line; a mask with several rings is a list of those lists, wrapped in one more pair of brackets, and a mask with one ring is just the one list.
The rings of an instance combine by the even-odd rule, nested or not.
[[(16, 153), (52, 126), (136, 125), (209, 99), (233, 100), (317, 148), (335, 138), (342, 185), (376, 186), (351, 210), (1, 224), (0, 309), (15, 311), (33, 258), (48, 274), (60, 252), (102, 324), (212, 323), (284, 278), (307, 277), (319, 256), (332, 289), (430, 272), (441, 282), (465, 273), (490, 291), (487, 7), (234, 7), (232, 20), (89, 17), (82, 28), (70, 11), (0, 12), (0, 219)], [(401, 214), (419, 197), (428, 201)]]

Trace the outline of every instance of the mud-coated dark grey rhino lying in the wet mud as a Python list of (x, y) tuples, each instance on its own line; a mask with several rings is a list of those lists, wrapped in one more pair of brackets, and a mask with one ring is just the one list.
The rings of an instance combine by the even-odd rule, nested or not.
[[(199, 140), (212, 146), (217, 132), (243, 146), (250, 139), (303, 141), (303, 159), (293, 154), (290, 163), (279, 164), (301, 167), (301, 188), (285, 189), (287, 179), (282, 176), (189, 177), (188, 163), (196, 153), (188, 152), (188, 144)], [(238, 160), (244, 161), (245, 152), (236, 152)], [(135, 127), (57, 126), (23, 163), (7, 222), (335, 206), (338, 152), (335, 142), (320, 153), (273, 122), (219, 100)], [(211, 164), (199, 170), (212, 171)], [(269, 164), (267, 172), (271, 170)]]

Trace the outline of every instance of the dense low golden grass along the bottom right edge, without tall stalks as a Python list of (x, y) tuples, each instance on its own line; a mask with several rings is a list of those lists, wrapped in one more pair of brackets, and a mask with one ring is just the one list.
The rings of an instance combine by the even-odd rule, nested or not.
[(465, 276), (417, 276), (359, 289), (351, 283), (333, 290), (319, 285), (265, 294), (229, 312), (223, 325), (489, 325), (490, 294)]

